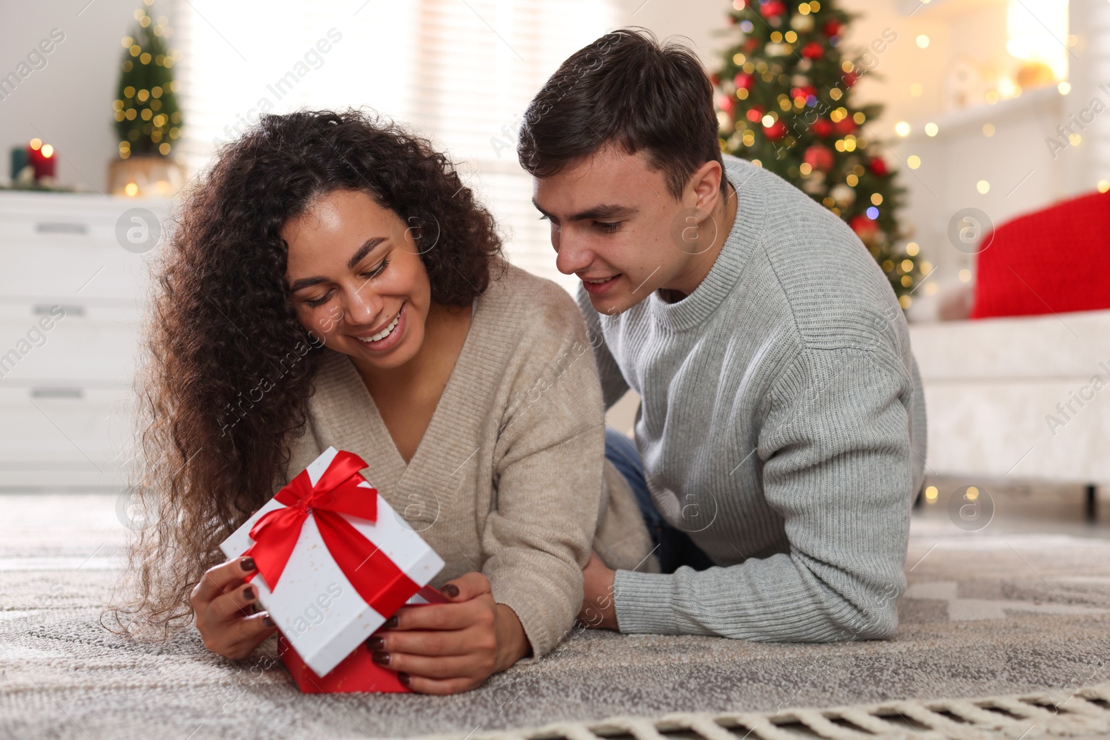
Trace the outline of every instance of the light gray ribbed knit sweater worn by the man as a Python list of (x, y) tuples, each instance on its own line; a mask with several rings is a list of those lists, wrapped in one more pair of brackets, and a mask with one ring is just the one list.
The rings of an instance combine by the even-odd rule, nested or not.
[(926, 453), (906, 321), (840, 219), (747, 161), (725, 170), (736, 222), (692, 294), (602, 316), (579, 288), (606, 407), (640, 395), (652, 496), (719, 566), (618, 570), (619, 629), (889, 637)]

